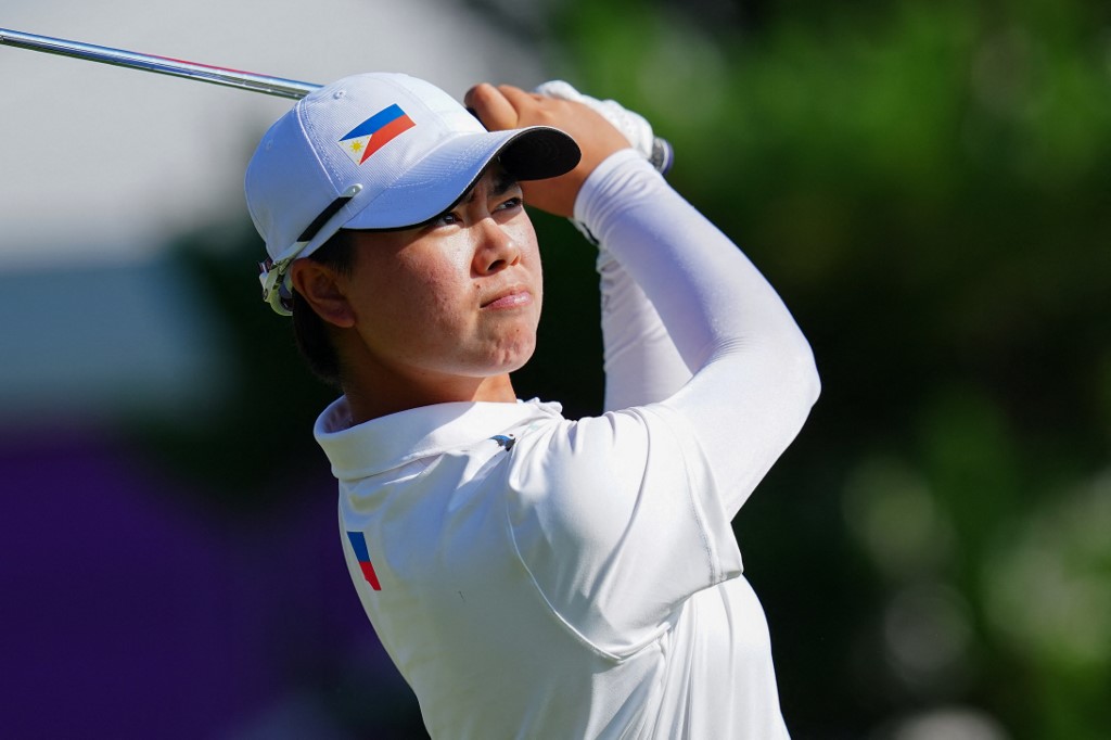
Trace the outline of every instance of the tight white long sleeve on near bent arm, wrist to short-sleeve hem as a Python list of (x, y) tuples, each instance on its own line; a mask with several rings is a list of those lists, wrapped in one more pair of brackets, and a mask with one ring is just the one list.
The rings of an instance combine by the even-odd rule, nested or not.
[(694, 370), (650, 408), (689, 428), (735, 512), (818, 397), (810, 346), (748, 258), (642, 159), (603, 162), (575, 218), (643, 289)]

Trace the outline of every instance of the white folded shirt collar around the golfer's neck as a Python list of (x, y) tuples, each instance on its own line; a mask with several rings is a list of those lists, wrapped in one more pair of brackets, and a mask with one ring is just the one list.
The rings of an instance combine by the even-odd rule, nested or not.
[(366, 478), (419, 458), (479, 442), (522, 422), (559, 417), (554, 402), (488, 401), (437, 403), (351, 426), (346, 397), (317, 418), (313, 437), (340, 480)]

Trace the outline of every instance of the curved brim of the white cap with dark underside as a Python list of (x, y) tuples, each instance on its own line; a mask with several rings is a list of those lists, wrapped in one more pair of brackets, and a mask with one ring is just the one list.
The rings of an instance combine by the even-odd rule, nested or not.
[[(494, 159), (521, 180), (559, 177), (581, 152), (567, 133), (549, 127), (467, 133), (449, 139), (376, 198), (359, 198), (339, 217), (344, 229), (403, 229), (432, 219), (460, 199)], [(334, 230), (333, 230), (334, 231)]]

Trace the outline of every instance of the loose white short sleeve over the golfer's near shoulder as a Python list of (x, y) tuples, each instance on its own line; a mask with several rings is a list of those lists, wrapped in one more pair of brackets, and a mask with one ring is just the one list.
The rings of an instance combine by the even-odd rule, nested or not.
[(688, 422), (652, 404), (518, 440), (508, 527), (553, 616), (620, 659), (655, 640), (741, 556)]

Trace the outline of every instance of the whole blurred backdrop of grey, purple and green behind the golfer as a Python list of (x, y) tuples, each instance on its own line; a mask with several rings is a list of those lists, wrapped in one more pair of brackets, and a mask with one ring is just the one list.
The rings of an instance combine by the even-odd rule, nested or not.
[[(822, 373), (735, 521), (794, 737), (1111, 732), (1111, 6), (8, 0), (0, 27), (640, 110)], [(259, 300), (240, 183), (289, 103), (3, 47), (0, 79), (3, 734), (422, 737), (342, 564), (333, 393)], [(536, 221), (518, 391), (589, 414), (591, 250)]]

